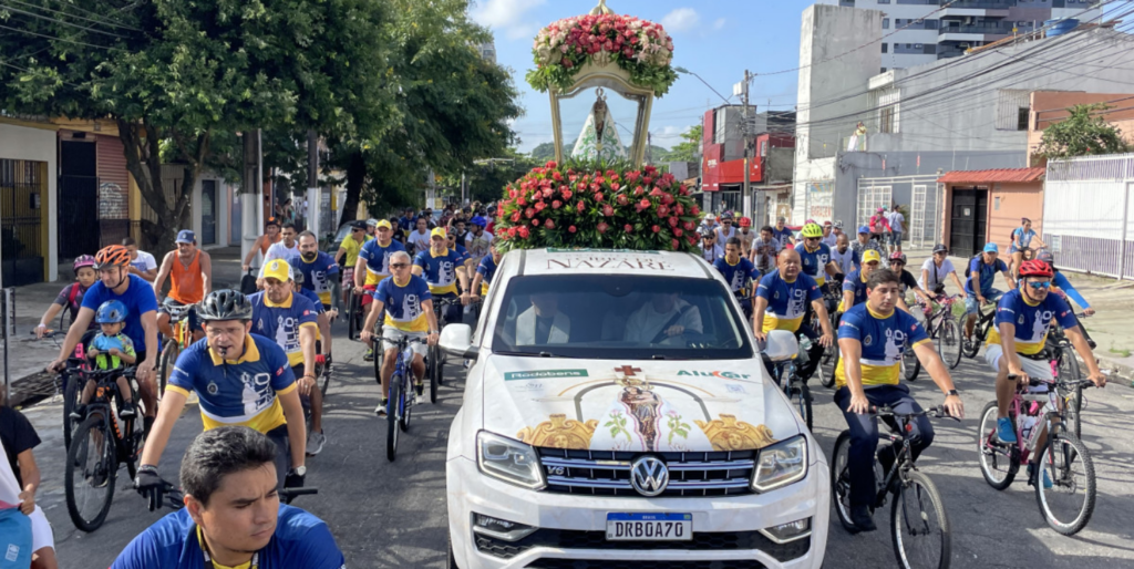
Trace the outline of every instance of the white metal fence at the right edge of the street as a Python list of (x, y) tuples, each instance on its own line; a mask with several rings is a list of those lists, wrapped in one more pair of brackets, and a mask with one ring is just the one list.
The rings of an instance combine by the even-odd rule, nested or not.
[(1043, 243), (1061, 270), (1134, 278), (1134, 154), (1048, 162)]

